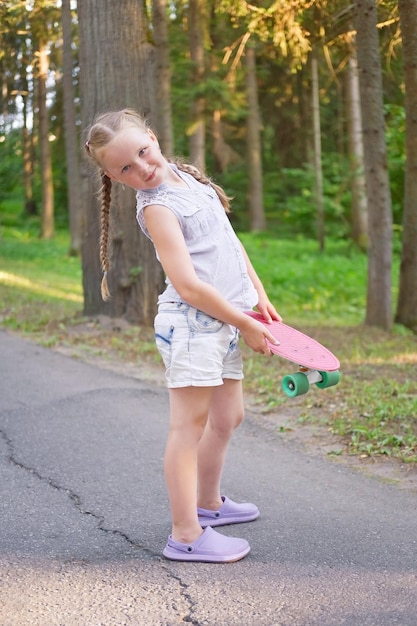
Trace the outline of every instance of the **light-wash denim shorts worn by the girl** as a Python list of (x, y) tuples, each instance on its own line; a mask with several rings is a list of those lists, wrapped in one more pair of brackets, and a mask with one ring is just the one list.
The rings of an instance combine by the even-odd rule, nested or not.
[(183, 302), (164, 302), (155, 317), (155, 341), (169, 388), (212, 387), (242, 380), (239, 331)]

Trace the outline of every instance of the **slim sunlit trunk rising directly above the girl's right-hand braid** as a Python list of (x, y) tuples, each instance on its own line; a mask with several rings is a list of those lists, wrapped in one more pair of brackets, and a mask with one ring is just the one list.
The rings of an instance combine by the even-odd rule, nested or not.
[[(193, 62), (193, 85), (201, 86), (205, 75), (204, 38), (205, 38), (205, 3), (203, 0), (190, 0), (188, 9), (188, 28), (190, 38), (190, 56)], [(196, 95), (191, 104), (190, 158), (202, 172), (206, 169), (206, 123), (204, 117), (205, 98)]]

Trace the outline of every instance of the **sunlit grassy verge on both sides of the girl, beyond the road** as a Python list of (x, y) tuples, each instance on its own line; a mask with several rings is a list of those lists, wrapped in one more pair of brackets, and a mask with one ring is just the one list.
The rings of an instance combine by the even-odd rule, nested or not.
[[(284, 319), (336, 352), (342, 380), (313, 386), (299, 398), (280, 390), (286, 361), (262, 358), (243, 346), (245, 390), (260, 413), (295, 414), (292, 428), (321, 426), (336, 453), (417, 463), (417, 337), (402, 327), (388, 333), (362, 325), (366, 258), (348, 243), (243, 234), (242, 240)], [(38, 238), (36, 218), (3, 211), (0, 234), (0, 324), (71, 354), (151, 365), (159, 363), (153, 332), (120, 320), (82, 316), (80, 262), (69, 257), (68, 235)], [(393, 270), (395, 301), (398, 261)], [(283, 436), (285, 428), (277, 426)]]

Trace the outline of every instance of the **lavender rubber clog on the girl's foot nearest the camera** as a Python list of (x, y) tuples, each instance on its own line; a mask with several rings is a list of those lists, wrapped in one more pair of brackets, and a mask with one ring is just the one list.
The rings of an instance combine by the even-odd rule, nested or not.
[(249, 550), (246, 539), (225, 537), (208, 526), (193, 543), (174, 541), (170, 535), (162, 554), (171, 561), (232, 563), (243, 559)]

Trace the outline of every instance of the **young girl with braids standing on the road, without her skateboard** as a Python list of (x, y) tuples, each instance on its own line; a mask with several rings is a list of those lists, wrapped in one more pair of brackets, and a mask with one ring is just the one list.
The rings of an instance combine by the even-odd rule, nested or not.
[(155, 337), (170, 399), (165, 452), (172, 534), (163, 550), (176, 561), (229, 562), (250, 550), (245, 539), (213, 526), (250, 522), (250, 503), (221, 495), (226, 451), (243, 419), (239, 334), (270, 355), (265, 327), (245, 315), (256, 306), (280, 320), (226, 215), (224, 191), (195, 167), (169, 162), (155, 134), (134, 111), (98, 116), (85, 144), (102, 178), (101, 263), (107, 287), (107, 240), (112, 181), (137, 191), (137, 220), (166, 274)]

